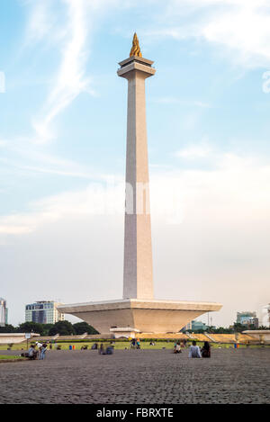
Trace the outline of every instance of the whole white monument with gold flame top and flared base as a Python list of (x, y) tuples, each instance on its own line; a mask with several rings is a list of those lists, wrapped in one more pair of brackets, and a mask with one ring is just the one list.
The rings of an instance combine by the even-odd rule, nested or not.
[(117, 72), (128, 81), (123, 299), (58, 307), (115, 337), (176, 333), (203, 313), (221, 308), (220, 303), (154, 299), (145, 101), (145, 80), (156, 73), (153, 63), (142, 58), (135, 33), (130, 58), (119, 63)]

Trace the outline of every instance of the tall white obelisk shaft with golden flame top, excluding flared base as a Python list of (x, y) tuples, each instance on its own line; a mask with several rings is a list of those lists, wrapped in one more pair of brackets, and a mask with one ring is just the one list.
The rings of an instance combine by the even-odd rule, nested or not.
[(135, 33), (130, 58), (117, 72), (129, 84), (123, 299), (154, 299), (145, 102), (145, 79), (156, 73), (153, 63), (141, 57)]

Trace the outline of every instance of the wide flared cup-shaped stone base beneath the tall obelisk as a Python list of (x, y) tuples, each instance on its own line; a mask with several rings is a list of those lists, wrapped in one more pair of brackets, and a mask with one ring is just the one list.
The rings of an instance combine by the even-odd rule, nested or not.
[(122, 299), (61, 305), (58, 310), (83, 319), (100, 334), (126, 328), (134, 334), (166, 334), (179, 332), (188, 322), (205, 312), (220, 310), (221, 306), (213, 302)]

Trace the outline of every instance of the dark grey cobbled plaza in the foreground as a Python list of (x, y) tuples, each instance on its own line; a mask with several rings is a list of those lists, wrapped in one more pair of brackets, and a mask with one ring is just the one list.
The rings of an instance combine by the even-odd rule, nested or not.
[(168, 349), (49, 351), (45, 361), (0, 364), (0, 385), (1, 404), (269, 403), (270, 348), (214, 349), (211, 359)]

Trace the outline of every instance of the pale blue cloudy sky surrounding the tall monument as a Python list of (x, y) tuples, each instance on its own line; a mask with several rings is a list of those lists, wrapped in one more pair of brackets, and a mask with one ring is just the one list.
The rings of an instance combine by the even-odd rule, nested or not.
[[(270, 302), (268, 0), (2, 0), (0, 296), (121, 299), (127, 83), (147, 80), (157, 299)], [(207, 321), (208, 316), (199, 318)]]

